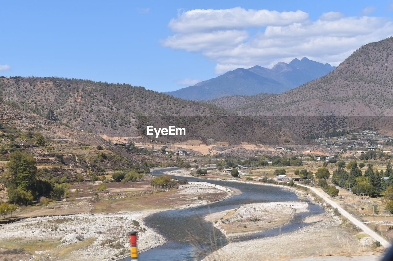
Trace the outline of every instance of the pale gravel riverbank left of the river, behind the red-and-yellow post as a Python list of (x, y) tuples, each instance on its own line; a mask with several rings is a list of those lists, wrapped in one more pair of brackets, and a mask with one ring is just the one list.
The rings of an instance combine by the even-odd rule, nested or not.
[[(155, 202), (160, 206), (156, 209), (93, 214), (92, 211), (97, 210), (93, 208), (89, 213), (83, 214), (29, 217), (0, 227), (0, 248), (24, 248), (31, 254), (31, 259), (42, 261), (53, 260), (54, 257), (55, 260), (75, 261), (121, 259), (129, 256), (129, 231), (138, 231), (140, 253), (166, 242), (154, 229), (146, 227), (145, 217), (174, 208), (206, 205), (227, 199), (236, 193), (222, 186), (212, 187), (209, 183), (196, 182), (158, 195), (101, 202), (117, 206), (115, 208), (121, 210), (123, 208), (118, 206), (126, 206), (129, 201), (135, 204), (136, 200), (144, 199), (149, 200), (151, 205)], [(100, 208), (100, 211), (104, 209)]]

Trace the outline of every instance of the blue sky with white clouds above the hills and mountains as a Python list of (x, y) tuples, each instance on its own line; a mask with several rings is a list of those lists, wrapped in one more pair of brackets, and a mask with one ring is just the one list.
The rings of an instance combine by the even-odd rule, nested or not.
[(174, 91), (303, 56), (339, 65), (393, 35), (393, 1), (0, 1), (0, 75)]

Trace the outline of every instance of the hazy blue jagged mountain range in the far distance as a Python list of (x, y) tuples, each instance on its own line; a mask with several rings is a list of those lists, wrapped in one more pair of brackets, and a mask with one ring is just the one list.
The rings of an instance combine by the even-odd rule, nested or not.
[(334, 69), (336, 67), (329, 63), (314, 62), (304, 57), (290, 63), (279, 62), (272, 69), (259, 65), (249, 69), (238, 68), (194, 86), (165, 93), (188, 100), (212, 100), (261, 92), (277, 94), (315, 80)]

